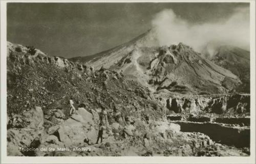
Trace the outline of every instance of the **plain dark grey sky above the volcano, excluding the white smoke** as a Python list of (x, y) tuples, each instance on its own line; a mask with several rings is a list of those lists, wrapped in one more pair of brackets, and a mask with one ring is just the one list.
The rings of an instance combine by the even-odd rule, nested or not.
[(207, 28), (205, 24), (229, 21), (242, 8), (249, 4), (8, 3), (7, 40), (33, 45), (51, 56), (88, 56), (127, 42), (156, 22), (164, 24), (165, 19), (156, 17), (165, 11), (187, 26)]

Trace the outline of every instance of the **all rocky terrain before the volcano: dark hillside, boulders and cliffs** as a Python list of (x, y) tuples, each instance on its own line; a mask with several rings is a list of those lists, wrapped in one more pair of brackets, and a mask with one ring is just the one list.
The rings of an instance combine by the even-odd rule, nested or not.
[[(227, 143), (200, 133), (204, 127), (234, 129), (234, 137), (249, 141), (249, 95), (168, 97), (124, 79), (122, 73), (94, 70), (22, 45), (8, 43), (8, 50), (10, 156), (250, 154), (246, 142), (237, 145), (237, 140)], [(77, 110), (70, 116), (71, 96)], [(103, 142), (95, 144), (102, 106), (108, 122)], [(191, 123), (202, 128), (191, 132)]]

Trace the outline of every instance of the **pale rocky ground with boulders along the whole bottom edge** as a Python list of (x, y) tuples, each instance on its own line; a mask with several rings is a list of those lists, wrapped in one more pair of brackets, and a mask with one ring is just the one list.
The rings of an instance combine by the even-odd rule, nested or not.
[[(58, 123), (44, 118), (35, 107), (19, 119), (30, 122), (23, 128), (8, 129), (8, 155), (11, 156), (247, 156), (248, 148), (236, 148), (212, 141), (200, 132), (181, 132), (180, 125), (162, 120), (126, 117), (113, 122), (95, 144), (98, 114), (78, 108), (64, 120), (53, 111)], [(126, 121), (125, 121), (126, 120)], [(86, 140), (86, 141), (85, 141)], [(24, 150), (20, 150), (20, 147)], [(27, 151), (30, 150), (31, 151)]]

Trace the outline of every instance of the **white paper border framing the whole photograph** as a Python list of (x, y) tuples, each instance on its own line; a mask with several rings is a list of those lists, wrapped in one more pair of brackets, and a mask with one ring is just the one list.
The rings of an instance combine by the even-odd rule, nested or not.
[[(8, 2), (26, 3), (160, 3), (160, 2), (229, 2), (250, 3), (250, 91), (251, 91), (251, 155), (249, 157), (13, 157), (7, 156), (6, 148), (6, 114), (7, 114), (7, 82), (6, 82), (6, 4)], [(255, 1), (1, 1), (1, 163), (255, 163)]]

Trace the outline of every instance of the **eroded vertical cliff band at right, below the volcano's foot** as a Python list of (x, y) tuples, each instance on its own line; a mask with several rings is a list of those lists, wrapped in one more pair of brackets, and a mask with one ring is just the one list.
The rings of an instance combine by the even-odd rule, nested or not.
[[(223, 114), (231, 110), (235, 113), (250, 112), (250, 95), (231, 94), (231, 95), (216, 95), (207, 97), (194, 98), (167, 98), (160, 99), (168, 111), (175, 113), (216, 113)], [(166, 102), (164, 102), (166, 101)]]

